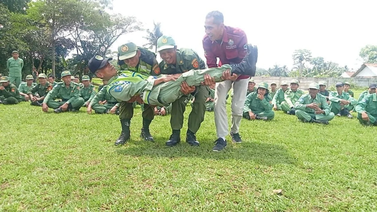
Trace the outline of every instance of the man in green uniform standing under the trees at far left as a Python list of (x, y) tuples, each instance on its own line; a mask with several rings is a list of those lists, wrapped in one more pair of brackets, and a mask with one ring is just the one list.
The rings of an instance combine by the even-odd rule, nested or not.
[(23, 68), (23, 60), (19, 58), (18, 51), (12, 52), (11, 58), (6, 62), (6, 67), (9, 70), (9, 80), (15, 86), (20, 86), (21, 84), (21, 71)]

